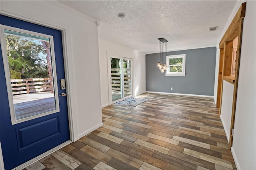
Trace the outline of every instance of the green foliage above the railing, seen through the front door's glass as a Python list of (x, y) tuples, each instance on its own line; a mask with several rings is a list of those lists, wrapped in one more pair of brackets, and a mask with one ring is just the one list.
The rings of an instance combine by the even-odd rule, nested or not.
[(5, 34), (5, 42), (11, 79), (49, 77), (42, 41)]

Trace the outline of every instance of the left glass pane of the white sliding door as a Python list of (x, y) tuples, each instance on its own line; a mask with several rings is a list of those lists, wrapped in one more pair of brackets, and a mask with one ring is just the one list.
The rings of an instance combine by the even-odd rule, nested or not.
[(122, 59), (111, 58), (112, 102), (122, 99)]

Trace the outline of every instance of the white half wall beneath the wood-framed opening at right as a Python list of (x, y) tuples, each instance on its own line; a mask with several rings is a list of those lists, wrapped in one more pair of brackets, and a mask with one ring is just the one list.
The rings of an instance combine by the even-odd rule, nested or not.
[(229, 141), (229, 137), (230, 137), (233, 94), (234, 94), (234, 84), (231, 84), (230, 82), (223, 80), (223, 92), (222, 92), (220, 119), (222, 121), (222, 125), (224, 127), (228, 141)]

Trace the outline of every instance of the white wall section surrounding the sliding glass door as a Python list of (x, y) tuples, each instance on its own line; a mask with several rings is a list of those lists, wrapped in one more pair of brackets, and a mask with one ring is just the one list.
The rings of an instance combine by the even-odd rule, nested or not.
[(145, 54), (137, 50), (129, 49), (121, 45), (99, 39), (100, 89), (102, 107), (109, 105), (107, 51), (110, 51), (115, 55), (133, 59), (134, 96), (138, 96), (146, 91)]

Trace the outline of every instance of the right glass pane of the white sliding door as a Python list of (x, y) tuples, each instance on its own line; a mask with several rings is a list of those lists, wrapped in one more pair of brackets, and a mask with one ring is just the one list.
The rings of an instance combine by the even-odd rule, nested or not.
[(124, 59), (124, 97), (132, 95), (131, 61)]

